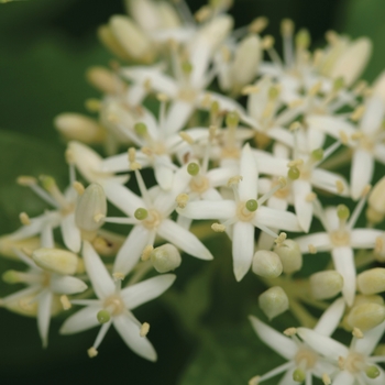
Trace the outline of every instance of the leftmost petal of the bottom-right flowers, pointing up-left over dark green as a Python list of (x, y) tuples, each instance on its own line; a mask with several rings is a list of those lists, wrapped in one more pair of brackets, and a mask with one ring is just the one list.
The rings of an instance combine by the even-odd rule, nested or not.
[(249, 319), (256, 334), (266, 345), (268, 345), (286, 360), (294, 359), (298, 348), (290, 338), (277, 332), (266, 323), (260, 321), (254, 316), (249, 316)]

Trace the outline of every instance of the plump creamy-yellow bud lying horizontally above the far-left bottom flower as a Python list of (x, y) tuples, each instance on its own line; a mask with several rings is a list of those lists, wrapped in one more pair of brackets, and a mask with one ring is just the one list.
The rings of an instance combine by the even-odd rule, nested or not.
[(61, 249), (37, 249), (32, 253), (32, 260), (43, 270), (63, 275), (73, 275), (78, 267), (78, 256)]

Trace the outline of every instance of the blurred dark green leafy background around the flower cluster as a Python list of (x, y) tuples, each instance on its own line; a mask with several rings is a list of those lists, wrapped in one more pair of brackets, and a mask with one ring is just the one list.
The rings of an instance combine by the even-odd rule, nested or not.
[[(189, 1), (194, 11), (202, 3)], [(1, 233), (19, 227), (20, 211), (34, 216), (44, 209), (30, 191), (15, 185), (18, 175), (52, 174), (65, 186), (64, 143), (53, 128), (53, 118), (64, 111), (85, 112), (85, 99), (98, 96), (84, 74), (90, 65), (108, 64), (111, 55), (98, 43), (95, 31), (110, 15), (123, 12), (121, 0), (0, 4)], [(315, 44), (320, 44), (330, 29), (353, 37), (367, 35), (374, 54), (364, 78), (373, 80), (384, 67), (383, 0), (235, 0), (231, 13), (237, 26), (266, 15), (271, 20), (266, 32), (277, 42), (283, 18), (307, 28)], [(222, 248), (228, 255), (226, 240)], [(97, 330), (64, 338), (57, 334), (63, 319), (52, 322), (50, 345), (42, 350), (34, 319), (0, 310), (1, 383), (245, 384), (283, 361), (262, 346), (246, 321), (246, 315), (258, 315), (261, 284), (250, 275), (237, 284), (231, 261), (224, 256), (210, 267), (187, 256), (178, 275), (191, 276), (188, 284), (178, 284), (163, 299), (135, 311), (140, 320), (153, 326), (148, 337), (158, 352), (156, 364), (134, 355), (112, 330), (99, 356), (89, 360), (86, 350)], [(0, 261), (1, 273), (10, 266), (14, 264)], [(7, 290), (1, 295), (13, 289)], [(177, 314), (175, 304), (180, 308), (183, 302), (191, 304), (189, 298), (196, 304)], [(288, 319), (274, 324), (286, 328)], [(191, 332), (197, 328), (198, 333)]]

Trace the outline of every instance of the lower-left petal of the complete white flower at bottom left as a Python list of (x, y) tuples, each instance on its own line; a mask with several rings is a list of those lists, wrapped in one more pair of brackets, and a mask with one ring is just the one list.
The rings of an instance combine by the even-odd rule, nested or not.
[(87, 306), (66, 319), (61, 328), (62, 334), (74, 334), (99, 326), (98, 312), (102, 309), (100, 304)]

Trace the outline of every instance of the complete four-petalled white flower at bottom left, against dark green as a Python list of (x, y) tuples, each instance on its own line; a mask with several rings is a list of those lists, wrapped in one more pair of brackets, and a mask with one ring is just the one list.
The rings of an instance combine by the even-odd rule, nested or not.
[(102, 323), (92, 348), (88, 351), (90, 356), (95, 356), (108, 329), (113, 324), (130, 349), (150, 361), (156, 361), (153, 345), (143, 336), (143, 329), (147, 328), (131, 310), (163, 294), (175, 280), (175, 275), (157, 276), (121, 289), (121, 280), (113, 282), (99, 255), (87, 241), (82, 245), (82, 256), (98, 299), (74, 300), (73, 304), (87, 307), (69, 317), (61, 333), (72, 334)]

